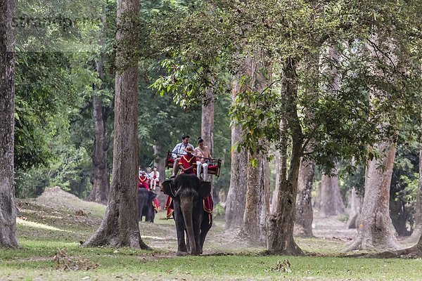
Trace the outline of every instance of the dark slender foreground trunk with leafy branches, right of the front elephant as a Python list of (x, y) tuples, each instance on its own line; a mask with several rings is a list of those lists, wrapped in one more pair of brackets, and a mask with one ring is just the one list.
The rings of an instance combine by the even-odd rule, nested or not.
[[(281, 138), (279, 146), (281, 163), (279, 195), (276, 212), (270, 216), (268, 221), (268, 250), (276, 254), (285, 255), (303, 254), (293, 239), (300, 157), (302, 156), (303, 145), (302, 129), (296, 104), (298, 94), (298, 85), (296, 83), (297, 63), (298, 61), (295, 59), (287, 58), (283, 65), (281, 98), (285, 103), (286, 112), (283, 112), (280, 117)], [(292, 151), (287, 174), (288, 130), (292, 135)]]

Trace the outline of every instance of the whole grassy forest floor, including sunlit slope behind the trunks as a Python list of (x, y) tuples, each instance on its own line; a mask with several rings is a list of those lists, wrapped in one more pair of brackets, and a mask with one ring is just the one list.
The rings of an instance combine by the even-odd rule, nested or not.
[(267, 256), (262, 247), (224, 233), (219, 219), (203, 256), (177, 257), (174, 223), (163, 220), (163, 212), (154, 224), (140, 224), (143, 240), (153, 251), (84, 248), (80, 242), (94, 233), (105, 207), (79, 202), (81, 215), (75, 202), (49, 204), (19, 202), (24, 216), (18, 220), (21, 247), (0, 249), (0, 280), (421, 280), (422, 276), (421, 259), (338, 257), (345, 243), (338, 238), (298, 238), (300, 247), (312, 253), (309, 256)]

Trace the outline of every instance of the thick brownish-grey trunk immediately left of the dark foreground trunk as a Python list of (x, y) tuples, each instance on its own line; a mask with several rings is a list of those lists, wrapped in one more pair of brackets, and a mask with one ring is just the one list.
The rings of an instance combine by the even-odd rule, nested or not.
[[(255, 158), (249, 155), (250, 159)], [(265, 155), (256, 156), (257, 166), (248, 165), (245, 214), (241, 235), (258, 244), (267, 244), (269, 214), (269, 167)]]

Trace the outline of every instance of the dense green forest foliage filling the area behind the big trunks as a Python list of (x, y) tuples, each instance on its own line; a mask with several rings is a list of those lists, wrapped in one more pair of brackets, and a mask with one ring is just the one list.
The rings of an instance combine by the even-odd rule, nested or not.
[[(274, 20), (274, 15), (279, 15), (277, 8), (285, 8), (287, 2), (271, 6), (274, 4), (271, 1), (267, 4), (252, 1), (250, 6), (245, 6), (242, 1), (234, 1), (233, 4), (224, 1), (214, 1), (212, 4), (201, 1), (143, 1), (139, 17), (142, 38), (139, 42), (139, 164), (143, 167), (158, 166), (164, 175), (167, 150), (179, 143), (185, 133), (191, 135), (193, 144), (196, 137), (201, 135), (203, 103), (206, 106), (210, 102), (207, 91), (212, 91), (215, 98), (211, 100), (212, 103), (215, 101), (213, 155), (223, 159), (222, 174), (214, 182), (214, 189), (217, 190), (214, 197), (218, 202), (219, 190), (227, 194), (231, 184), (229, 171), (233, 166), (231, 155), (235, 152), (231, 124), (240, 124), (243, 129), (249, 129), (242, 145), (252, 155), (255, 154), (254, 157), (264, 150), (269, 152), (266, 155), (269, 158), (271, 155), (272, 158), (280, 157), (276, 152), (279, 147), (274, 145), (274, 140), (283, 137), (283, 132), (274, 133), (274, 128), (279, 126), (279, 119), (274, 122), (274, 115), (283, 110), (277, 103), (279, 96), (275, 93), (286, 86), (282, 84), (283, 75), (279, 73), (288, 65), (280, 62), (300, 61), (305, 66), (297, 71), (302, 79), (300, 82), (305, 86), (299, 87), (303, 100), (298, 106), (315, 105), (316, 110), (303, 113), (312, 116), (303, 119), (306, 120), (303, 133), (310, 140), (312, 138), (307, 133), (312, 133), (313, 122), (324, 126), (324, 129), (315, 130), (315, 136), (319, 137), (315, 148), (319, 150), (315, 150), (314, 155), (317, 162), (314, 190), (321, 186), (319, 182), (324, 183), (322, 171), (332, 171), (337, 165), (340, 172), (340, 203), (347, 204), (352, 188), (363, 197), (366, 159), (383, 158), (382, 153), (370, 149), (370, 145), (394, 138), (397, 154), (388, 187), (390, 216), (399, 235), (410, 235), (414, 230), (417, 209), (420, 176), (418, 136), (421, 126), (420, 23), (414, 22), (411, 15), (417, 15), (421, 7), (417, 1), (410, 1), (411, 4), (405, 1), (395, 4), (374, 1), (371, 6), (362, 9), (357, 8), (359, 1), (345, 4), (346, 8), (334, 2), (331, 6), (324, 6), (319, 1), (314, 4), (297, 1), (290, 7), (292, 18), (286, 19), (286, 34), (281, 34), (283, 32), (274, 31), (276, 23), (271, 20)], [(16, 32), (15, 194), (17, 197), (37, 197), (46, 187), (59, 185), (80, 198), (87, 198), (93, 190), (96, 167), (103, 165), (102, 169), (109, 175), (113, 163), (115, 1), (93, 0), (89, 5), (85, 2), (70, 4), (67, 1), (56, 5), (51, 1), (42, 6), (38, 1), (18, 0), (17, 3), (16, 18), (20, 19), (17, 26), (25, 28)], [(324, 20), (316, 19), (314, 25), (309, 26), (307, 17), (312, 15), (312, 5), (325, 8), (327, 13)], [(63, 20), (61, 25), (46, 25), (46, 28), (39, 29), (28, 20), (34, 15), (38, 18), (56, 15), (56, 19), (66, 15), (73, 22), (79, 20), (72, 25), (63, 23)], [(333, 20), (330, 16), (339, 20)], [(339, 31), (336, 28), (343, 28), (342, 17), (356, 18), (347, 18), (345, 22), (352, 23)], [(260, 20), (259, 24), (255, 22), (257, 20)], [(238, 30), (229, 30), (233, 22), (238, 24)], [(366, 54), (368, 56), (362, 60), (359, 51), (347, 51), (353, 48), (362, 51), (359, 35), (368, 32), (365, 28), (369, 27), (378, 31), (378, 37), (373, 39), (388, 42), (384, 47), (391, 52), (373, 62), (367, 61), (371, 54)], [(38, 32), (38, 37), (34, 36), (34, 30)], [(341, 36), (337, 38), (335, 34)], [(326, 45), (319, 44), (323, 39), (331, 41), (328, 40), (329, 44)], [(349, 40), (349, 45), (338, 39)], [(242, 41), (246, 47), (238, 48)], [(318, 58), (321, 49), (329, 48), (334, 48), (345, 57), (352, 57), (347, 60), (349, 64), (342, 64), (342, 60), (322, 60), (319, 63), (318, 59), (315, 63), (315, 55)], [(315, 51), (317, 49), (318, 52)], [(252, 61), (255, 60), (257, 70), (253, 73), (261, 85), (255, 86), (255, 81), (247, 90), (239, 91), (236, 103), (232, 100), (233, 81), (237, 79), (241, 85), (252, 83), (250, 77), (253, 75), (249, 75), (249, 78), (238, 75), (241, 72), (238, 70), (247, 65), (243, 63), (248, 58), (246, 54)], [(264, 59), (257, 62), (257, 58)], [(391, 59), (392, 65), (385, 62)], [(384, 72), (382, 75), (392, 81), (376, 79), (375, 83), (370, 84), (369, 79), (380, 74), (364, 70), (370, 69), (371, 63), (380, 63), (379, 60), (383, 60), (380, 67)], [(357, 77), (368, 80), (359, 84), (353, 75), (343, 75), (343, 88), (333, 85), (335, 79), (332, 77), (349, 69), (352, 63)], [(335, 74), (333, 69), (336, 69)], [(316, 76), (312, 75), (315, 71), (326, 73), (315, 79)], [(321, 94), (322, 91), (316, 91), (316, 88), (330, 92), (326, 91), (327, 87), (335, 91), (340, 87), (349, 96), (335, 100), (338, 103), (331, 105), (313, 104), (315, 100), (304, 98), (306, 95), (303, 93), (310, 93), (309, 96)], [(359, 91), (347, 91), (347, 87)], [(267, 91), (269, 89), (271, 91)], [(369, 98), (368, 89), (385, 91), (390, 96), (378, 97), (379, 103), (375, 103), (378, 107), (372, 112), (372, 119), (366, 118), (367, 122), (362, 122), (359, 114), (368, 117), (368, 110), (374, 104)], [(261, 100), (267, 103), (261, 103)], [(326, 106), (327, 111), (316, 106)], [(350, 117), (348, 114), (351, 111), (347, 110), (351, 108), (355, 108), (357, 113), (350, 119), (356, 118), (353, 120), (357, 120), (359, 128), (354, 127), (353, 122), (347, 123), (345, 116)], [(318, 110), (331, 114), (319, 115)], [(338, 119), (333, 119), (334, 116)], [(95, 135), (98, 133), (96, 122), (102, 122), (99, 127), (104, 129), (103, 136)], [(338, 130), (338, 124), (344, 124), (345, 129)], [(387, 125), (380, 129), (380, 124)], [(294, 134), (294, 126), (290, 131)], [(321, 137), (327, 131), (328, 134)], [(347, 146), (342, 142), (350, 141), (350, 136), (354, 134), (360, 138), (355, 143)], [(101, 150), (106, 152), (106, 161), (100, 163), (96, 158), (96, 144), (101, 138)], [(331, 148), (330, 145), (338, 145), (339, 148)], [(236, 150), (240, 151), (241, 146)], [(294, 153), (292, 150), (293, 145), (286, 147), (290, 156)], [(254, 166), (254, 157), (245, 163)], [(272, 184), (269, 186), (271, 190), (276, 190), (279, 169), (275, 161), (271, 163), (269, 178)], [(354, 173), (348, 174), (348, 171)]]

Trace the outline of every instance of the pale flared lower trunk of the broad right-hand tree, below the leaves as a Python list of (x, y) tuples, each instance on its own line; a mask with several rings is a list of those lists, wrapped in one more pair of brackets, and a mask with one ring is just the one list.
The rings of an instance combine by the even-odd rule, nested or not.
[(385, 152), (385, 156), (379, 161), (371, 160), (366, 168), (364, 204), (357, 237), (347, 250), (399, 247), (389, 212), (390, 183), (396, 148), (394, 143), (387, 142), (378, 145), (378, 149)]

